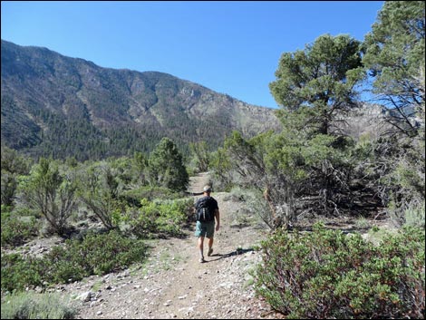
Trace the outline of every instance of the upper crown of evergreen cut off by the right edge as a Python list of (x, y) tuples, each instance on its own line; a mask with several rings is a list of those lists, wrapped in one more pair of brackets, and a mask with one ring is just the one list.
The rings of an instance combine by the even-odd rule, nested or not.
[(373, 76), (373, 92), (396, 111), (390, 122), (408, 136), (417, 135), (410, 118), (424, 106), (424, 81), (419, 81), (424, 79), (424, 36), (424, 1), (386, 1), (364, 41), (363, 63)]

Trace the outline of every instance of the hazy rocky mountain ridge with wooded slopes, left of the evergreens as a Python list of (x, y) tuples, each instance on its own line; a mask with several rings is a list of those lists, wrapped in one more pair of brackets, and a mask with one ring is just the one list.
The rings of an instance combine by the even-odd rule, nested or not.
[(274, 110), (167, 73), (102, 68), (2, 40), (2, 144), (33, 157), (98, 160), (169, 137), (216, 149), (231, 131), (275, 129)]

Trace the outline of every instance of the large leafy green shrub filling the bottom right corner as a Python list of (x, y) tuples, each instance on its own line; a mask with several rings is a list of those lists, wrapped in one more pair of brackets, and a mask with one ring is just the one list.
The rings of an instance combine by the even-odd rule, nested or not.
[(374, 246), (361, 235), (315, 226), (262, 243), (257, 294), (289, 318), (423, 317), (424, 231)]

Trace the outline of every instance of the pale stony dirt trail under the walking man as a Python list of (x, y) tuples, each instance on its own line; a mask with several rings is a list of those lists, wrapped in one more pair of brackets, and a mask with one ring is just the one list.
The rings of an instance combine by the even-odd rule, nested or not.
[[(208, 174), (199, 174), (191, 179), (190, 191), (200, 192), (206, 183)], [(249, 275), (260, 259), (253, 247), (265, 237), (264, 231), (238, 220), (241, 203), (228, 193), (212, 196), (218, 200), (221, 228), (211, 257), (205, 247), (206, 263), (198, 262), (193, 223), (185, 238), (151, 242), (144, 266), (62, 286), (64, 295), (78, 297), (78, 318), (278, 317), (255, 296)]]

